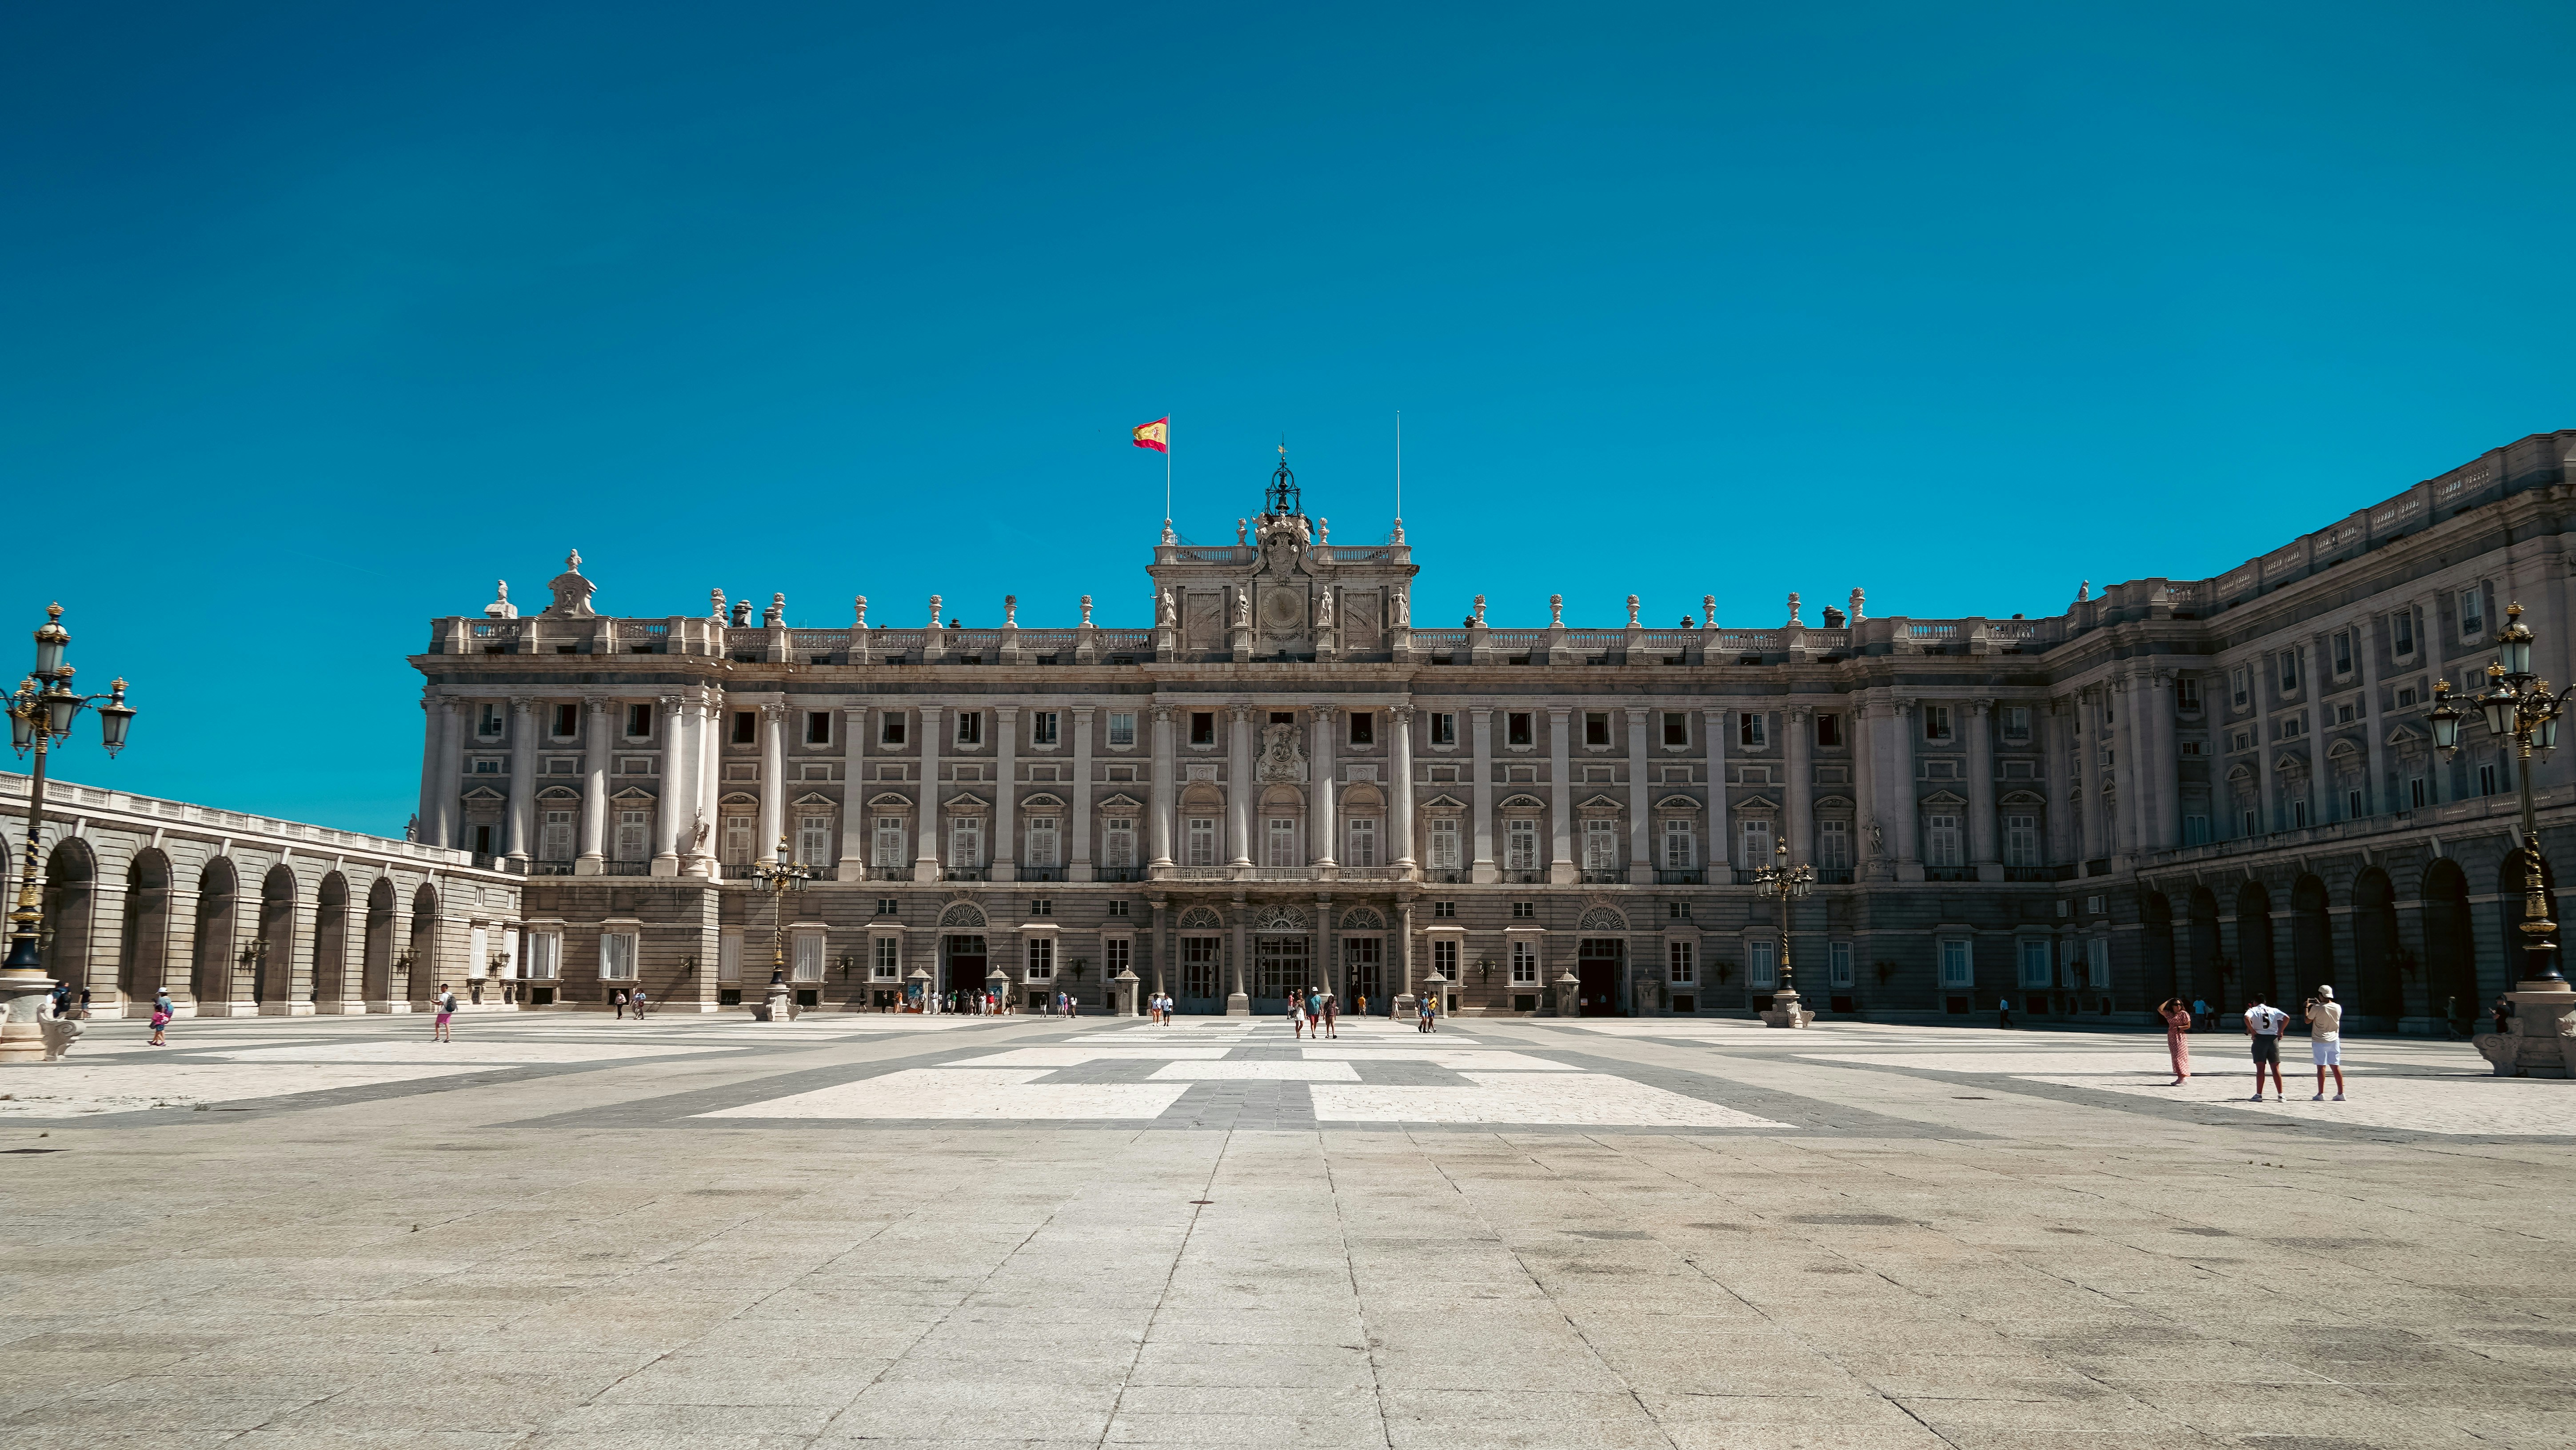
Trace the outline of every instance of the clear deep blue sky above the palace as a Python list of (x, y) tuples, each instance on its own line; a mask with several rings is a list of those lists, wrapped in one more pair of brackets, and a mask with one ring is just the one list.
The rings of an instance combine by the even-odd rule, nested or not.
[(21, 5), (0, 623), (399, 832), (495, 577), (1144, 623), (1162, 412), (1360, 541), (1401, 410), (1422, 621), (2053, 613), (2576, 425), (2571, 15)]

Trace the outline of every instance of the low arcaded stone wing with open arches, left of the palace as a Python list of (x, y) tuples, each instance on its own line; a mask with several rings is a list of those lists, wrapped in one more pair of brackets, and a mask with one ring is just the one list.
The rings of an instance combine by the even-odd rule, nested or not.
[[(0, 775), (0, 829), (26, 840), (26, 775)], [(49, 780), (39, 961), (137, 1017), (551, 1002), (526, 979), (523, 878), (464, 850)], [(10, 855), (21, 855), (13, 850)], [(544, 963), (538, 963), (544, 966)]]

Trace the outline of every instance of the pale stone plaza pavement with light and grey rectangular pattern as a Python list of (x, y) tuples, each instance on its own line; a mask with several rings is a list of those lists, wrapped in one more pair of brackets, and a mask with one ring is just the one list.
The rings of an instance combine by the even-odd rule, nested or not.
[(2576, 1084), (2465, 1043), (142, 1035), (0, 1079), (0, 1450), (2576, 1442)]

